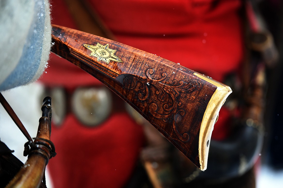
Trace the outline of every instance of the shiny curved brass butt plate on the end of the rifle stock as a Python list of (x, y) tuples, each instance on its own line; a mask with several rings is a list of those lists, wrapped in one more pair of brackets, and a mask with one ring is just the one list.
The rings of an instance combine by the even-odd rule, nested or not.
[(204, 171), (207, 168), (208, 151), (214, 124), (218, 118), (218, 114), (222, 105), (224, 104), (226, 98), (230, 95), (232, 90), (229, 86), (219, 83), (202, 74), (198, 74), (197, 72), (195, 72), (194, 75), (217, 87), (206, 107), (200, 126), (198, 150), (200, 158), (200, 169)]

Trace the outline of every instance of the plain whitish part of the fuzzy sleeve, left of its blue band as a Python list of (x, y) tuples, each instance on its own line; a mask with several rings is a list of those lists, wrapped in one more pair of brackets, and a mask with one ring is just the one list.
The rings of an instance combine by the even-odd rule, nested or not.
[(35, 2), (0, 1), (0, 84), (8, 77), (22, 56), (23, 46), (33, 20)]

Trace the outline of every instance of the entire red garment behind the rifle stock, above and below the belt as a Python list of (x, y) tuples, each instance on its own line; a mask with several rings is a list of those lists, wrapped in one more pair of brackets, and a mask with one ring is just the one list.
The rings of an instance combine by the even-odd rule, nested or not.
[[(218, 81), (239, 67), (243, 56), (240, 0), (88, 1), (121, 43)], [(54, 24), (76, 28), (63, 0), (51, 4)], [(49, 65), (41, 80), (46, 85), (101, 84), (55, 55)], [(227, 137), (229, 120), (228, 110), (222, 108), (214, 139)], [(62, 128), (52, 130), (58, 154), (48, 166), (55, 187), (122, 187), (134, 168), (142, 134), (126, 114), (115, 114), (97, 128), (85, 128), (69, 114)]]

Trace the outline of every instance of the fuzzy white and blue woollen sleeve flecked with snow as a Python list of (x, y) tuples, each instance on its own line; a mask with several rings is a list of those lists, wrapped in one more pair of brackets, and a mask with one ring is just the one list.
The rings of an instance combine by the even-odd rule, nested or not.
[(0, 0), (0, 91), (38, 79), (50, 43), (48, 0)]

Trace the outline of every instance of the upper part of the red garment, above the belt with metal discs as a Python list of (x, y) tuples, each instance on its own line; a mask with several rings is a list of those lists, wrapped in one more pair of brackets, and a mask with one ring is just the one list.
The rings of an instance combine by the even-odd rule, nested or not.
[[(243, 56), (242, 28), (237, 12), (240, 0), (89, 2), (121, 43), (180, 63), (218, 81), (223, 81), (227, 73), (239, 67)], [(53, 23), (76, 28), (61, 0), (52, 5)], [(85, 84), (85, 81), (99, 83), (76, 67), (76, 70), (68, 67), (72, 74), (62, 72), (57, 62), (65, 60), (53, 55), (52, 59), (43, 76), (44, 82), (65, 82), (73, 86)], [(80, 76), (76, 76), (76, 72), (80, 72)]]

